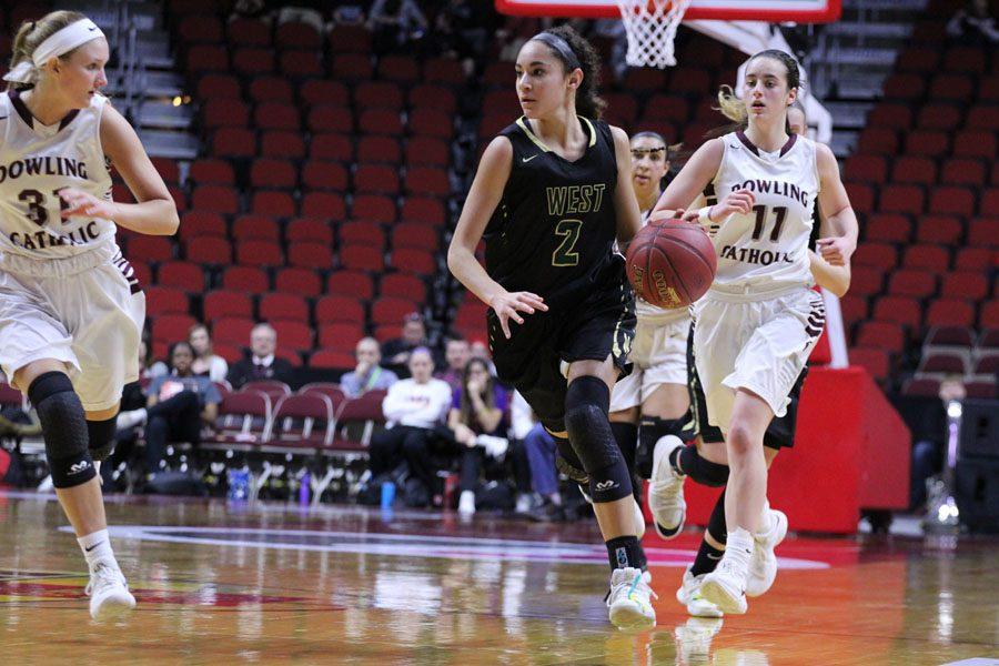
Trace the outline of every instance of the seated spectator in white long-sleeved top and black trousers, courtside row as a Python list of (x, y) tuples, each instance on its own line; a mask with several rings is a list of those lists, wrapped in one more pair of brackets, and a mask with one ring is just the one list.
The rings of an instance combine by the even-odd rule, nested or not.
[[(393, 472), (402, 462), (407, 464), (411, 475), (407, 484), (422, 486), (420, 490), (425, 496), (424, 501), (413, 504), (426, 505), (437, 485), (430, 446), (437, 436), (434, 431), (443, 425), (452, 404), (451, 386), (435, 380), (433, 372), (430, 350), (413, 350), (410, 356), (413, 376), (400, 380), (389, 389), (382, 402), (389, 428), (374, 436), (369, 453), (372, 478)], [(418, 494), (406, 490), (408, 497)]]

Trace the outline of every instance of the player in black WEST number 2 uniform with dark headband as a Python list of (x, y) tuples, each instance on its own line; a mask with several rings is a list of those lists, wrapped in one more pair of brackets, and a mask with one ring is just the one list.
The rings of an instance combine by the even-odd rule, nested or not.
[[(521, 48), (524, 115), (486, 148), (447, 263), (491, 307), (500, 377), (524, 395), (556, 438), (563, 468), (588, 488), (612, 568), (610, 622), (644, 628), (655, 625), (650, 575), (607, 421), (635, 321), (613, 248), (634, 236), (639, 215), (627, 135), (598, 120), (598, 71), (593, 47), (568, 27)], [(474, 254), (482, 238), (485, 269)]]

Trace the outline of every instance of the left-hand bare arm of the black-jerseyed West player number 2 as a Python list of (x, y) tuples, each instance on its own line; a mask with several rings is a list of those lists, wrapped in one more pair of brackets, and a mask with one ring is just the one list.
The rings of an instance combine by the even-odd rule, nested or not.
[(503, 334), (509, 337), (509, 320), (523, 324), (517, 312), (532, 314), (535, 309), (547, 310), (544, 301), (531, 292), (509, 293), (475, 259), (475, 248), (482, 240), (486, 224), (503, 196), (513, 164), (513, 145), (505, 137), (493, 139), (482, 155), (478, 172), (462, 209), (454, 238), (447, 249), (447, 268), (468, 291), (492, 307), (500, 319)]

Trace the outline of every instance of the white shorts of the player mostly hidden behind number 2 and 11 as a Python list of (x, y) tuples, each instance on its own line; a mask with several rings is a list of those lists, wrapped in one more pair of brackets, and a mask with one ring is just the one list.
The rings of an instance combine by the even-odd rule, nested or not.
[(630, 410), (644, 403), (663, 384), (687, 385), (687, 336), (690, 317), (668, 323), (638, 319), (628, 361), (632, 373), (614, 385), (610, 411)]

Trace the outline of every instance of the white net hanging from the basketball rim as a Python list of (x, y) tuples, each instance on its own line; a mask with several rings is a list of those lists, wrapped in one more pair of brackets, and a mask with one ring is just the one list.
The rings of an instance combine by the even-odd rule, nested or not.
[(673, 67), (673, 40), (692, 0), (617, 0), (632, 67)]

